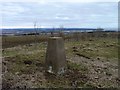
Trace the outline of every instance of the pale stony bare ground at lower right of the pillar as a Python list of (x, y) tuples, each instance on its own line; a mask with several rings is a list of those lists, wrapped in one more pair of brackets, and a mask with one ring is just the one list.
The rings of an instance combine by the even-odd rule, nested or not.
[(69, 60), (74, 63), (84, 64), (88, 68), (88, 84), (95, 87), (118, 87), (117, 60), (87, 59), (79, 56), (72, 57)]

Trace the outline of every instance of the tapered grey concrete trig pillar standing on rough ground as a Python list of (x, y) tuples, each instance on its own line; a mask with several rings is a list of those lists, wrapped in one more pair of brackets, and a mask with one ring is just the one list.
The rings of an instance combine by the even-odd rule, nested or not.
[(62, 37), (48, 39), (46, 53), (46, 71), (54, 74), (63, 74), (66, 70), (66, 55)]

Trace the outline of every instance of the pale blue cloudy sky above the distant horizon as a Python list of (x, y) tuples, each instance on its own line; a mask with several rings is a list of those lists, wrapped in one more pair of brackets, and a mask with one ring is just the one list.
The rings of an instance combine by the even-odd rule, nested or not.
[[(83, 1), (83, 0), (82, 0)], [(82, 2), (79, 0), (3, 1), (1, 28), (117, 28), (117, 0)], [(106, 0), (108, 1), (108, 0)]]

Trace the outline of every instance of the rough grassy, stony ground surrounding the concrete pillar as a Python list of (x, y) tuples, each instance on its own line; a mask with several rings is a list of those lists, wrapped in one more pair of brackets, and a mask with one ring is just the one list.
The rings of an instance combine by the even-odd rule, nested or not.
[(3, 49), (4, 88), (117, 87), (120, 47), (117, 38), (65, 39), (68, 71), (64, 76), (44, 71), (47, 38), (38, 36), (40, 42), (36, 43), (35, 36), (4, 37), (4, 40), (11, 42), (3, 44), (9, 47)]

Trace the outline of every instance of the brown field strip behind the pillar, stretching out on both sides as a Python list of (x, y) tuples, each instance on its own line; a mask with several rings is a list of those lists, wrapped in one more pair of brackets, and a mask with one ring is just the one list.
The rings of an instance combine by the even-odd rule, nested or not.
[[(2, 47), (14, 47), (17, 45), (24, 45), (24, 44), (30, 44), (30, 43), (40, 43), (40, 42), (46, 42), (48, 37), (51, 35), (47, 35), (46, 33), (44, 35), (22, 35), (22, 36), (3, 36), (2, 37)], [(117, 38), (116, 32), (102, 32), (102, 33), (68, 33), (68, 34), (57, 34), (56, 36), (62, 36), (65, 40), (68, 41), (78, 41), (78, 40), (89, 40), (91, 38)]]

